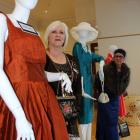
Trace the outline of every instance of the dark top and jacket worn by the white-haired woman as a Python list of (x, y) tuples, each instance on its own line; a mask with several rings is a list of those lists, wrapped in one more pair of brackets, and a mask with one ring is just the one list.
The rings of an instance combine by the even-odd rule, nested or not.
[[(73, 93), (66, 93), (67, 95), (76, 96), (76, 106), (77, 110), (80, 110), (80, 100), (82, 95), (81, 90), (81, 76), (79, 73), (79, 65), (77, 64), (76, 60), (73, 56), (69, 54), (65, 54), (66, 56), (66, 64), (58, 64), (53, 62), (48, 55), (46, 55), (47, 63), (45, 66), (45, 70), (48, 72), (64, 72), (67, 73), (71, 82), (72, 82), (72, 90)], [(50, 86), (54, 90), (56, 96), (63, 96), (63, 91), (61, 88), (61, 81), (57, 82), (49, 82)]]

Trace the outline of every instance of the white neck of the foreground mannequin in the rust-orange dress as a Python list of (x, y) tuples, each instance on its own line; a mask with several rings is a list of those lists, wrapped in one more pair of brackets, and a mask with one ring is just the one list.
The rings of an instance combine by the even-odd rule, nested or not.
[(17, 20), (27, 23), (29, 19), (29, 15), (30, 15), (30, 9), (27, 9), (18, 3), (16, 3), (16, 6), (13, 12), (11, 14), (8, 14), (9, 18), (12, 20), (15, 26), (17, 24), (16, 23)]

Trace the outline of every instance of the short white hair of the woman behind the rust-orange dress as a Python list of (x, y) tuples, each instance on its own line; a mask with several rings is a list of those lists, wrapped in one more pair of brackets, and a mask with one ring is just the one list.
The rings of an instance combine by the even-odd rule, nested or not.
[(49, 26), (46, 28), (46, 31), (45, 31), (45, 35), (44, 35), (44, 38), (45, 38), (45, 41), (47, 42), (48, 44), (48, 36), (49, 34), (54, 30), (56, 29), (58, 26), (62, 26), (64, 28), (64, 33), (65, 33), (65, 40), (64, 40), (64, 45), (63, 47), (66, 47), (67, 46), (67, 43), (68, 43), (68, 27), (67, 25), (64, 23), (64, 22), (61, 22), (59, 20), (56, 20), (56, 21), (53, 21), (52, 23), (49, 24)]

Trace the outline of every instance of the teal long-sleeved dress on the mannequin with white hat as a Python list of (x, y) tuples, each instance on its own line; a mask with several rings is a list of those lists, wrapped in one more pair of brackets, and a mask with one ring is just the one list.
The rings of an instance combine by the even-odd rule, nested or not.
[[(94, 78), (92, 74), (92, 62), (100, 62), (103, 60), (102, 56), (99, 56), (93, 52), (86, 52), (82, 44), (76, 42), (73, 48), (73, 56), (77, 59), (80, 65), (80, 74), (83, 77), (84, 92), (90, 96), (93, 96), (93, 84)], [(79, 115), (80, 124), (88, 124), (93, 120), (93, 100), (82, 97), (81, 111)]]

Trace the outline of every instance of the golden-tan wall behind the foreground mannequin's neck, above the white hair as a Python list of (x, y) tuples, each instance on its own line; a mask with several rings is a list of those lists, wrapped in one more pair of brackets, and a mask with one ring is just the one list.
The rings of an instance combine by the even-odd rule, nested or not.
[[(14, 8), (15, 0), (0, 0), (0, 11), (9, 13)], [(75, 24), (75, 0), (38, 0), (31, 11), (29, 23), (37, 30), (44, 30), (53, 20), (62, 20), (72, 26)], [(47, 11), (47, 12), (45, 12)]]

